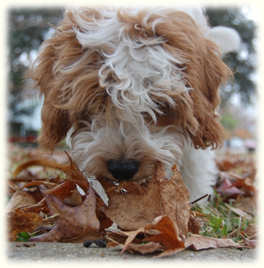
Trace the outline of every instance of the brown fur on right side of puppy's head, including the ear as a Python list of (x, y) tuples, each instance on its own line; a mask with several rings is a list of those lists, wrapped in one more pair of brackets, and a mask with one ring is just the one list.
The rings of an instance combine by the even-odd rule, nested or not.
[(171, 112), (171, 118), (191, 138), (195, 148), (216, 148), (224, 138), (215, 115), (220, 101), (218, 91), (231, 71), (222, 61), (217, 45), (204, 36), (186, 13), (175, 12), (156, 28), (168, 40), (164, 48), (185, 59), (182, 76), (190, 88), (173, 96), (176, 110)]

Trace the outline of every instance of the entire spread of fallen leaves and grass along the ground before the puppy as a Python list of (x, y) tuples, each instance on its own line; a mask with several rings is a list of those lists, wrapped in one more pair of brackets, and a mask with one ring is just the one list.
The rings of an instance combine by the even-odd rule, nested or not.
[[(216, 198), (211, 207), (199, 207), (191, 206), (176, 166), (171, 178), (166, 178), (163, 165), (157, 163), (152, 179), (142, 183), (117, 184), (97, 178), (106, 202), (67, 153), (63, 157), (61, 153), (28, 155), (27, 161), (15, 166), (8, 181), (9, 240), (81, 242), (104, 238), (108, 247), (118, 247), (121, 253), (158, 257), (186, 248), (252, 247), (253, 215), (236, 204), (255, 198), (255, 169), (245, 161), (223, 161), (217, 162), (221, 172)], [(222, 218), (231, 213), (240, 219), (235, 227)], [(236, 243), (241, 239), (234, 241), (235, 232), (243, 235), (242, 244)]]

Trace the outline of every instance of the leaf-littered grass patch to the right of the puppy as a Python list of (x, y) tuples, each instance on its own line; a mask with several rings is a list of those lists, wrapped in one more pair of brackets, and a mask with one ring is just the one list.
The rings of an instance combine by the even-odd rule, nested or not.
[(192, 207), (199, 233), (231, 238), (241, 246), (255, 247), (257, 192), (254, 158), (226, 153), (218, 157), (216, 163), (220, 171), (215, 198), (206, 206)]

